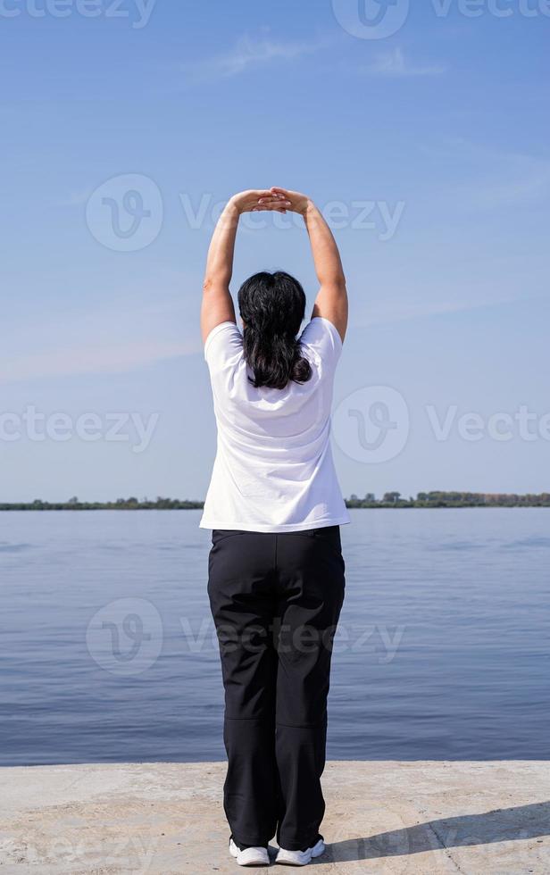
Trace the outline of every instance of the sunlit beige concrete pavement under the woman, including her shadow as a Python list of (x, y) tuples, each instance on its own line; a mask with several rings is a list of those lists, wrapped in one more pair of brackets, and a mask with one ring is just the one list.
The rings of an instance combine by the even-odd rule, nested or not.
[[(223, 762), (0, 769), (0, 875), (245, 871), (227, 850), (224, 772)], [(323, 786), (320, 875), (550, 873), (550, 762), (329, 762)]]

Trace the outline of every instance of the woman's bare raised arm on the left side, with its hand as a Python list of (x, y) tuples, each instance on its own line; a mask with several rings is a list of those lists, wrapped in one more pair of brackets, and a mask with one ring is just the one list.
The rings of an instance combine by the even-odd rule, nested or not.
[[(258, 204), (261, 197), (268, 199), (266, 204)], [(256, 210), (286, 212), (289, 205), (285, 196), (275, 197), (270, 189), (239, 192), (225, 205), (212, 234), (206, 259), (201, 307), (203, 342), (212, 329), (221, 322), (236, 321), (233, 299), (229, 293), (229, 282), (233, 273), (235, 238), (241, 213)]]

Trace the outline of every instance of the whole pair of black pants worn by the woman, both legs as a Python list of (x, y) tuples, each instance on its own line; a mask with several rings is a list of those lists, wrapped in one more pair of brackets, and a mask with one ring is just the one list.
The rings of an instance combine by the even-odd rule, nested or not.
[(224, 809), (240, 845), (301, 850), (325, 811), (332, 639), (344, 599), (337, 526), (215, 529), (208, 595), (225, 687)]

